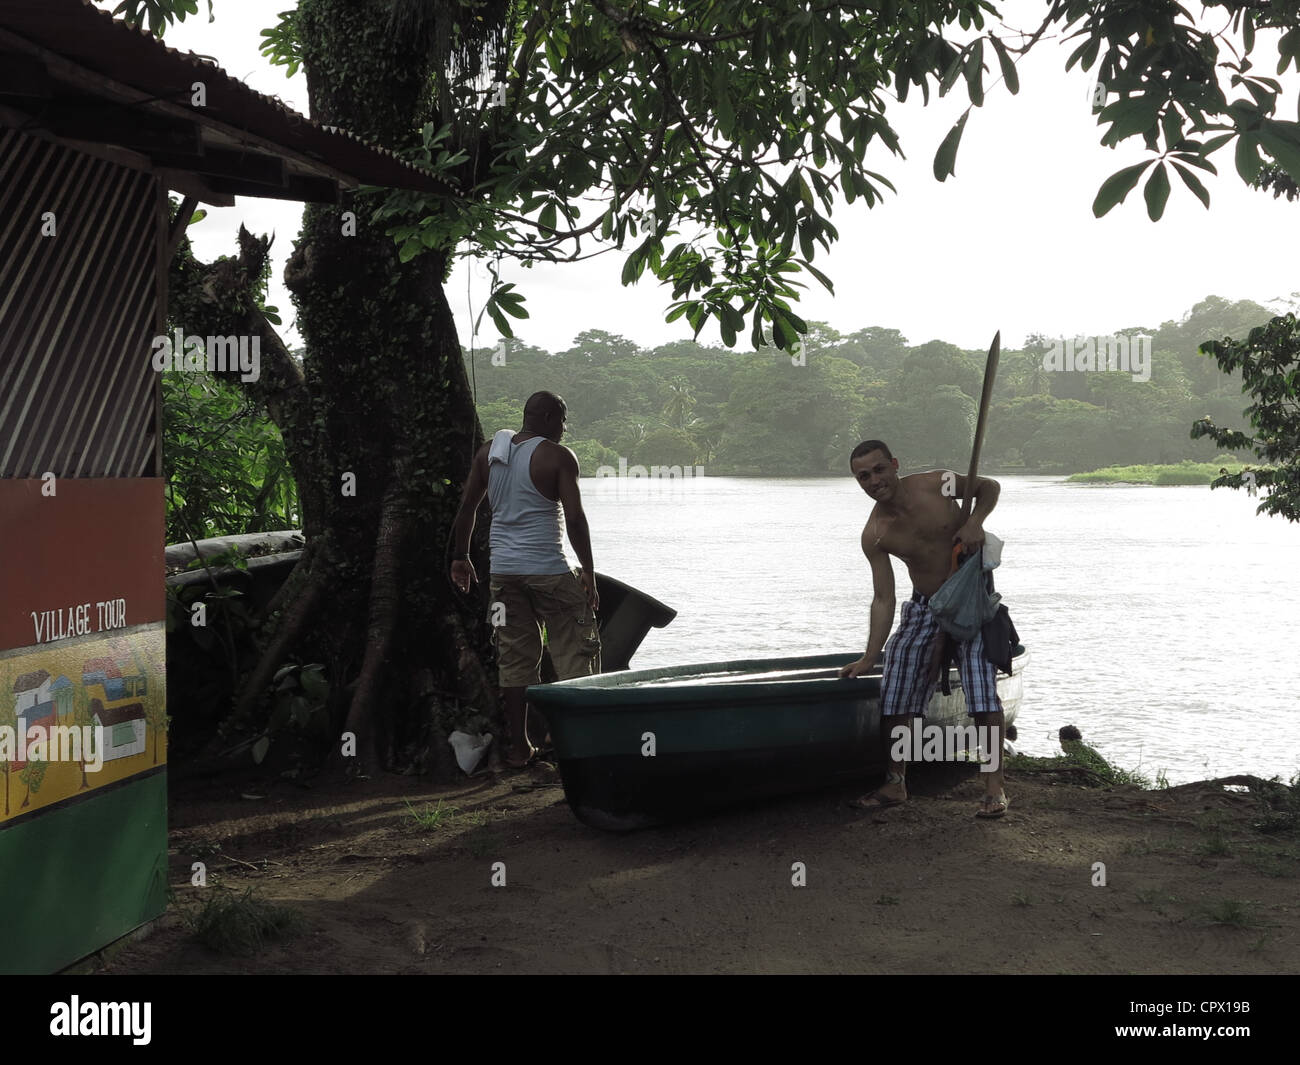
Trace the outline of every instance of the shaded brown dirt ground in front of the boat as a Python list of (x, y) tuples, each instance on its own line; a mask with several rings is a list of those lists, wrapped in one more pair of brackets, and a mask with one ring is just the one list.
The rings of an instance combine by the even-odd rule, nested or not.
[[(550, 767), (438, 789), (403, 776), (174, 788), (176, 900), (96, 967), (1300, 971), (1300, 839), (1261, 832), (1252, 793), (1212, 782), (1084, 788), (1013, 771), (1011, 809), (989, 822), (972, 817), (976, 776), (914, 766), (914, 800), (887, 811), (848, 808), (858, 787), (628, 835), (578, 823)], [(437, 824), (412, 810), (438, 811)], [(196, 861), (207, 887), (191, 886)], [(248, 888), (292, 906), (304, 930), (248, 956), (195, 941), (185, 914)]]

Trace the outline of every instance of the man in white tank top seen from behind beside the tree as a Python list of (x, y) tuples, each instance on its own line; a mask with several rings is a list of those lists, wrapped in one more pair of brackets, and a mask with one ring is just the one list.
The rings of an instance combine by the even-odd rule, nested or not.
[[(578, 495), (577, 458), (560, 446), (567, 407), (538, 391), (524, 406), (524, 427), (503, 429), (478, 449), (451, 527), (451, 581), (462, 592), (478, 579), (469, 560), (474, 511), (491, 505), (491, 620), (506, 701), (506, 763), (528, 765), (536, 750), (525, 728), (524, 690), (541, 680), (541, 627), (560, 680), (601, 671), (601, 603), (592, 566), (592, 534)], [(564, 532), (578, 558), (564, 557)]]

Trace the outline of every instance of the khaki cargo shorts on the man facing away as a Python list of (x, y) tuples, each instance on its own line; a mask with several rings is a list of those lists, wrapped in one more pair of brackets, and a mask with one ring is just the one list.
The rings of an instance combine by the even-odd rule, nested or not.
[(582, 581), (568, 573), (493, 573), (489, 618), (497, 640), (502, 688), (523, 688), (541, 679), (542, 625), (560, 680), (601, 672), (601, 632)]

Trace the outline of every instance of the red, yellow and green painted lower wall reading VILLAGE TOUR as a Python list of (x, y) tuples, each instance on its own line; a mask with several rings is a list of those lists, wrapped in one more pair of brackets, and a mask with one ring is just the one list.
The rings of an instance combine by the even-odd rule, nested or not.
[(157, 479), (0, 480), (0, 971), (165, 904), (162, 527)]

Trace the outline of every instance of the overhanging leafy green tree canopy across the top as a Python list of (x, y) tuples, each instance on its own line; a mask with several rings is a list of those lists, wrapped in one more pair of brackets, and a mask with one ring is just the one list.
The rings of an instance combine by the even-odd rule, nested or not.
[[(152, 21), (195, 0), (120, 9), (142, 5)], [(624, 283), (649, 270), (671, 289), (670, 321), (698, 335), (715, 319), (728, 346), (749, 329), (755, 346), (792, 348), (806, 330), (796, 277), (832, 290), (812, 260), (837, 238), (836, 196), (872, 207), (893, 189), (863, 163), (878, 142), (902, 153), (887, 103), (914, 88), (927, 101), (968, 96), (935, 156), (946, 179), (971, 111), (998, 85), (1019, 90), (1017, 64), (1049, 30), (1078, 40), (1067, 69), (1097, 72), (1101, 143), (1140, 138), (1152, 155), (1102, 183), (1098, 217), (1144, 174), (1153, 220), (1171, 174), (1208, 207), (1197, 172), (1216, 174), (1230, 144), (1244, 181), (1265, 166), (1300, 179), (1300, 122), (1278, 117), (1280, 85), (1251, 61), (1257, 31), (1279, 30), (1277, 73), (1300, 72), (1300, 0), (1212, 0), (1201, 22), (1170, 0), (1045, 8), (1017, 31), (987, 0), (376, 3), (394, 33), (429, 42), (433, 83), (410, 155), (458, 190), (393, 194), (377, 218), (404, 259), (467, 247), (530, 264), (612, 246)], [(283, 13), (263, 48), (290, 70), (294, 18)], [(511, 283), (494, 285), (486, 313), (507, 337), (510, 319), (528, 316)]]

